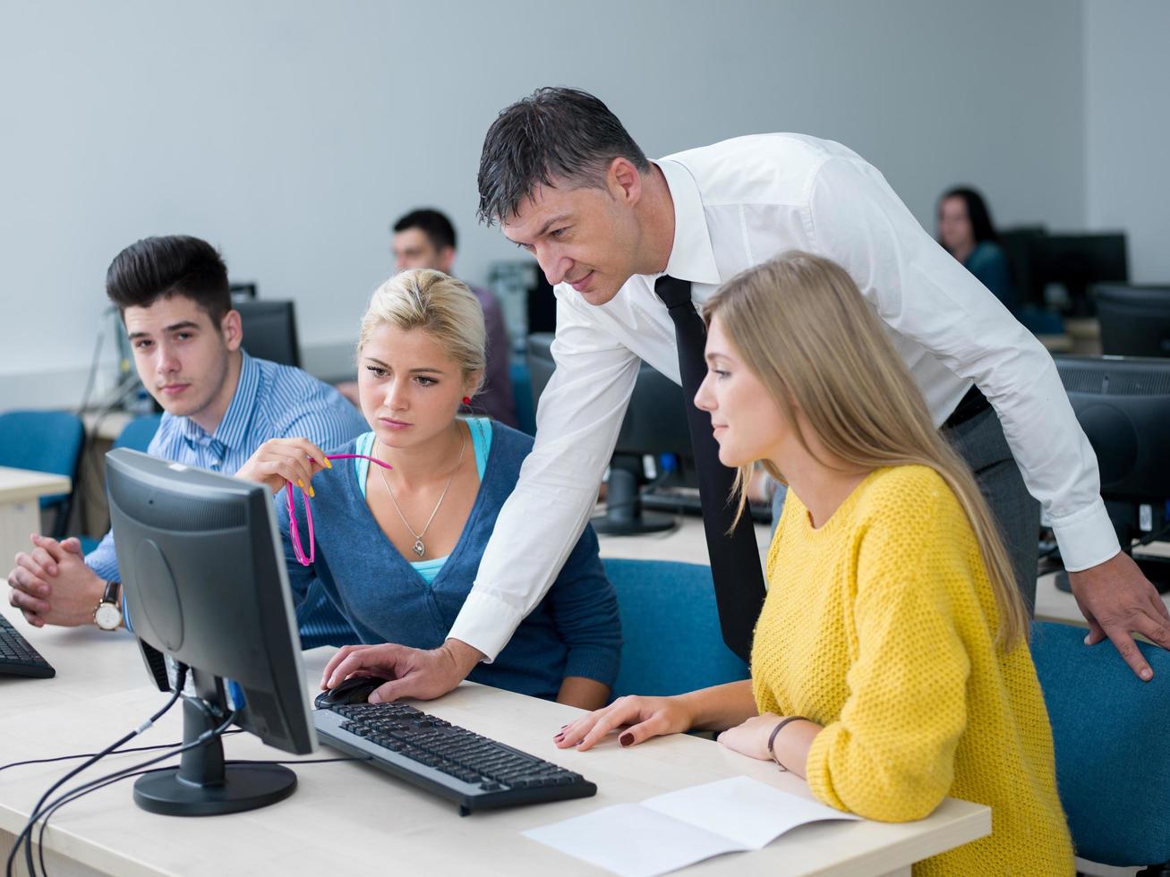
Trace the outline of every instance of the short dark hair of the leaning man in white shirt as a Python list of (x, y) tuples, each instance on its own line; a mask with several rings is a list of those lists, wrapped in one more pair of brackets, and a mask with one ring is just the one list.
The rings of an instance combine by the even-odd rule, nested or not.
[(481, 222), (516, 213), (553, 177), (601, 186), (610, 163), (625, 158), (639, 171), (649, 161), (618, 117), (579, 89), (543, 88), (501, 111), (480, 156)]

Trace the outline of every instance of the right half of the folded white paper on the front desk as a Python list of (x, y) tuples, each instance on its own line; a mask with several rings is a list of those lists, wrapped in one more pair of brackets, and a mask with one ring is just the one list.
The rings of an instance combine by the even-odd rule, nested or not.
[(667, 792), (646, 799), (640, 806), (753, 850), (763, 849), (785, 831), (806, 822), (859, 819), (748, 776)]

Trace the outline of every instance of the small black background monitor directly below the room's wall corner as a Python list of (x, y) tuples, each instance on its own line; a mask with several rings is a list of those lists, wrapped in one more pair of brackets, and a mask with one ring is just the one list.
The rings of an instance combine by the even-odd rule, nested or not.
[(1093, 315), (1089, 288), (1095, 283), (1128, 281), (1126, 235), (1121, 233), (1038, 235), (1031, 239), (1032, 298), (1046, 302), (1045, 290), (1064, 286), (1069, 316)]

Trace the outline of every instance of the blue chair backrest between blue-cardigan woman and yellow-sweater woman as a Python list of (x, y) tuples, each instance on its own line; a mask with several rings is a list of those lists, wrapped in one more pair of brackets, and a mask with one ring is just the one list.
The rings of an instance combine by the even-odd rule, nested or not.
[(710, 567), (670, 560), (604, 562), (618, 592), (625, 641), (613, 697), (680, 695), (748, 678), (748, 665), (723, 643)]

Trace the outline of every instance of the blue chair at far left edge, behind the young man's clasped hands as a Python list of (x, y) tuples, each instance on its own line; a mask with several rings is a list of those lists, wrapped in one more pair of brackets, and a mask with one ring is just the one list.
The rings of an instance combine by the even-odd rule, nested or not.
[[(77, 483), (85, 428), (69, 412), (5, 412), (0, 414), (0, 465), (64, 475)], [(53, 536), (61, 538), (69, 524), (73, 493), (41, 497), (41, 509), (56, 513)]]

